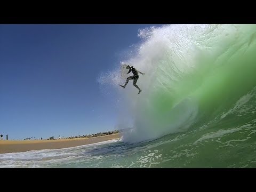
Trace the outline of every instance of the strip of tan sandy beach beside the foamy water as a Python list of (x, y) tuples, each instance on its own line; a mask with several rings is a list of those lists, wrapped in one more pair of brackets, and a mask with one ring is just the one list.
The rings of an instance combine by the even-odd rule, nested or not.
[(87, 145), (91, 143), (97, 143), (101, 141), (107, 141), (111, 139), (118, 139), (121, 134), (104, 135), (100, 137), (92, 138), (75, 138), (75, 139), (56, 139), (56, 140), (36, 140), (36, 141), (12, 141), (12, 140), (0, 140), (0, 154), (3, 153), (17, 153), (30, 150), (41, 149), (62, 149), (68, 147), (76, 147)]

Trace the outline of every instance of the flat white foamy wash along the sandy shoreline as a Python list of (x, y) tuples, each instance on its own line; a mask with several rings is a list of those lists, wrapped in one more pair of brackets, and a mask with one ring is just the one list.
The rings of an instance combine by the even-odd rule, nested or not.
[[(121, 141), (121, 139), (63, 149), (43, 149), (22, 153), (1, 154), (0, 167), (51, 167), (53, 165), (58, 166), (70, 162), (79, 162), (81, 159), (83, 159), (82, 161), (90, 162), (92, 158), (95, 160), (99, 157), (90, 157), (90, 154), (86, 154), (86, 151), (118, 141)], [(86, 157), (88, 159), (86, 159)]]

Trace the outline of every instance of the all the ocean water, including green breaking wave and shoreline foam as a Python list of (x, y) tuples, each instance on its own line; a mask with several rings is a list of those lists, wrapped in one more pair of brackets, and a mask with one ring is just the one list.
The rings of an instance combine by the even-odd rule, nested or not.
[[(115, 89), (122, 138), (0, 154), (0, 167), (256, 167), (256, 25), (140, 29), (122, 62), (99, 77)], [(125, 73), (124, 73), (125, 72)], [(126, 130), (126, 131), (124, 131)]]

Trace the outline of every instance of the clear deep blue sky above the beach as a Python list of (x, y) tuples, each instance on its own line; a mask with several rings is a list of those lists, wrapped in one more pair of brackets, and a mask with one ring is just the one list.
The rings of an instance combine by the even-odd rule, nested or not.
[(0, 133), (12, 140), (114, 130), (117, 95), (104, 94), (97, 79), (149, 26), (0, 25)]

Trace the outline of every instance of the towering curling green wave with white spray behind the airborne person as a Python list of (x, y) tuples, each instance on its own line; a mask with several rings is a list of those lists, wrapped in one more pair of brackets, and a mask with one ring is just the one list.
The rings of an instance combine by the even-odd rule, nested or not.
[[(256, 86), (255, 34), (256, 25), (236, 24), (139, 30), (143, 41), (133, 55), (107, 75), (110, 79), (103, 78), (119, 93), (117, 122), (124, 125), (119, 128), (133, 127), (123, 140), (157, 139), (186, 131), (195, 120), (203, 126), (232, 113), (227, 109)], [(118, 86), (129, 76), (120, 73), (124, 63), (145, 73), (137, 81), (139, 95), (132, 82)]]

